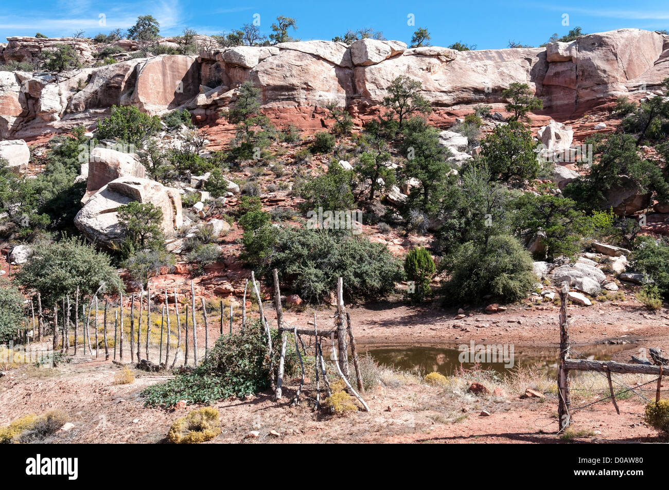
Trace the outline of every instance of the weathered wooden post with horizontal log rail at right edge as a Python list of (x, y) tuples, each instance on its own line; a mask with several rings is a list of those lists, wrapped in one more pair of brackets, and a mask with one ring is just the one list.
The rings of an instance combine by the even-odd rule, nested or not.
[[(614, 362), (614, 361), (596, 361), (589, 359), (575, 359), (571, 357), (571, 346), (569, 344), (569, 318), (567, 317), (567, 295), (569, 293), (569, 283), (566, 281), (562, 283), (560, 290), (560, 359), (558, 364), (558, 373), (557, 373), (557, 392), (558, 392), (558, 420), (559, 420), (559, 431), (564, 431), (565, 428), (571, 425), (573, 422), (573, 414), (578, 410), (582, 410), (587, 406), (591, 406), (595, 403), (603, 402), (605, 400), (611, 399), (613, 402), (613, 407), (617, 414), (620, 414), (620, 410), (617, 405), (616, 393), (613, 389), (613, 378), (615, 374), (650, 374), (652, 376), (658, 376), (657, 380), (651, 380), (643, 384), (638, 384), (634, 388), (627, 386), (621, 382), (615, 381), (615, 383), (623, 388), (626, 388), (618, 392), (618, 395), (626, 392), (634, 392), (640, 398), (650, 402), (648, 398), (640, 394), (641, 386), (646, 384), (656, 383), (655, 391), (655, 402), (660, 401), (660, 389), (662, 388), (662, 375), (664, 368), (666, 367), (669, 370), (669, 359), (664, 358), (657, 348), (650, 349), (650, 355), (655, 364), (646, 359), (636, 358), (632, 356), (632, 360), (638, 364), (626, 364), (623, 362)], [(609, 386), (609, 396), (601, 398), (600, 400), (595, 400), (594, 402), (585, 404), (573, 408), (571, 406), (571, 396), (569, 392), (569, 372), (570, 371), (591, 371), (599, 372), (606, 376)]]

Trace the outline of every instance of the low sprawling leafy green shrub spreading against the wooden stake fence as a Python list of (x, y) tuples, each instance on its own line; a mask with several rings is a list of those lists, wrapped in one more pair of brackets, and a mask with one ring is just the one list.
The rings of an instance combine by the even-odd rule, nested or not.
[[(272, 345), (280, 345), (281, 336), (272, 330)], [(297, 354), (288, 342), (284, 376), (296, 373)], [(278, 368), (280, 352), (274, 349), (274, 368)], [(244, 332), (222, 335), (209, 356), (190, 373), (149, 386), (142, 392), (147, 406), (173, 406), (179, 400), (211, 403), (229, 396), (243, 397), (266, 390), (270, 386), (267, 356), (267, 334), (260, 320), (248, 325)]]

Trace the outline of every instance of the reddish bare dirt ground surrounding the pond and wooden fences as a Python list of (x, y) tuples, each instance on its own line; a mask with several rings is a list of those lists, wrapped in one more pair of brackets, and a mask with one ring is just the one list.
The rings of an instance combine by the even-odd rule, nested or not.
[[(266, 309), (268, 310), (268, 309)], [(411, 307), (401, 303), (350, 308), (361, 346), (455, 346), (469, 340), (557, 346), (558, 307), (551, 303), (515, 305), (506, 312), (472, 310), (457, 320), (457, 312), (438, 304)], [(333, 325), (332, 308), (318, 310), (319, 330)], [(576, 344), (632, 342), (616, 354), (628, 360), (639, 347), (667, 346), (666, 310), (648, 314), (634, 299), (622, 303), (570, 306), (571, 338)], [(271, 320), (271, 314), (268, 312)], [(286, 311), (287, 324), (303, 328), (311, 310)], [(213, 330), (211, 332), (214, 333)], [(65, 410), (74, 428), (56, 442), (161, 443), (169, 426), (187, 410), (146, 408), (143, 388), (168, 378), (136, 371), (132, 384), (114, 384), (120, 369), (111, 362), (84, 356), (55, 369), (24, 366), (0, 378), (0, 425), (28, 413)], [(474, 396), (418, 380), (400, 386), (379, 386), (365, 393), (370, 412), (330, 416), (312, 411), (304, 401), (291, 407), (297, 380), (287, 380), (284, 399), (270, 392), (243, 400), (221, 400), (222, 433), (212, 443), (562, 443), (556, 437), (557, 400), (522, 399), (519, 393)], [(306, 386), (307, 394), (312, 386)], [(600, 402), (574, 414), (577, 437), (571, 442), (663, 441), (642, 422), (644, 404), (638, 398), (620, 400), (617, 415), (610, 402)], [(480, 415), (481, 410), (490, 412)], [(250, 437), (258, 431), (258, 437)], [(278, 433), (270, 434), (270, 431)]]

